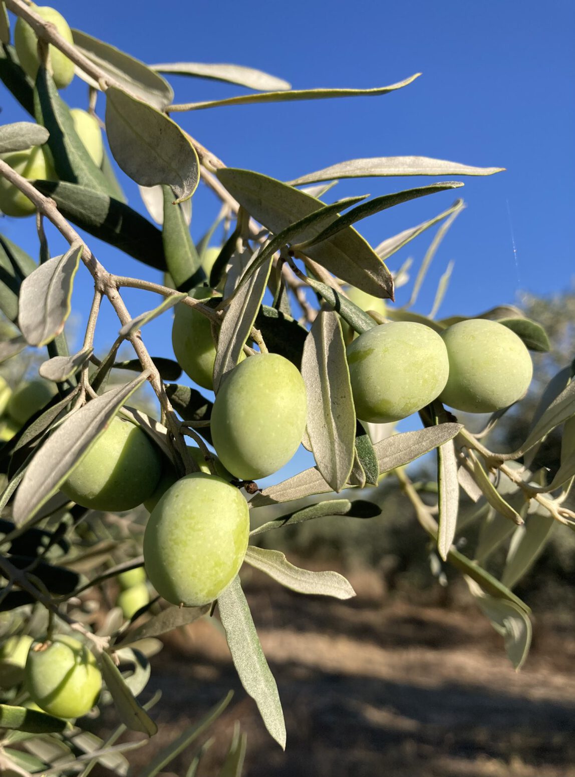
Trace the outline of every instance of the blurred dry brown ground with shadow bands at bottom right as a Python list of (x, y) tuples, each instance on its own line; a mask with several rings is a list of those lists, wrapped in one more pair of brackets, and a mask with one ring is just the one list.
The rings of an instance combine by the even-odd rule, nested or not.
[[(539, 616), (521, 672), (462, 598), (449, 608), (385, 597), (368, 573), (357, 598), (291, 594), (254, 575), (247, 594), (277, 679), (285, 753), (242, 691), (216, 618), (169, 637), (145, 693), (162, 689), (160, 733), (130, 754), (134, 774), (229, 688), (232, 705), (198, 777), (218, 775), (234, 720), (246, 777), (575, 777), (573, 618)], [(166, 775), (186, 774), (190, 753)]]

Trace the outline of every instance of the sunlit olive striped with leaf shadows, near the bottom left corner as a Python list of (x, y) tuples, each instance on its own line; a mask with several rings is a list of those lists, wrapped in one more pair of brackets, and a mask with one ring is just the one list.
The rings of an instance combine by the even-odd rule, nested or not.
[(78, 639), (65, 634), (54, 637), (47, 647), (32, 646), (25, 675), (32, 701), (58, 718), (88, 713), (102, 688), (96, 658)]

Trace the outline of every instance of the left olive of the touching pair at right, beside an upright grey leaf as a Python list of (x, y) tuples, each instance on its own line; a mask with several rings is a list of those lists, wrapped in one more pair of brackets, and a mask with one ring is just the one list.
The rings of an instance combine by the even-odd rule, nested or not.
[(362, 421), (399, 421), (432, 402), (448, 379), (441, 337), (406, 321), (368, 329), (347, 347), (355, 412)]

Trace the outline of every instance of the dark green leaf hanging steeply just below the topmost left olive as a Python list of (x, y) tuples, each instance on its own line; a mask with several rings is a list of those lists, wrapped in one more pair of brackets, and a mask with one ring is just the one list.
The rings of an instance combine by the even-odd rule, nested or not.
[(70, 109), (61, 99), (54, 78), (47, 68), (40, 67), (34, 86), (34, 114), (38, 124), (50, 133), (50, 148), (58, 179), (111, 194), (103, 172), (96, 166), (88, 149), (78, 137)]

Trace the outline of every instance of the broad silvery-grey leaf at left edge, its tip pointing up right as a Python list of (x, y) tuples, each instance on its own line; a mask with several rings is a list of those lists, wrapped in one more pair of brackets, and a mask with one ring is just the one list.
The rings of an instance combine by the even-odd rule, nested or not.
[(82, 251), (83, 246), (74, 243), (66, 253), (40, 264), (23, 280), (18, 325), (29, 345), (46, 345), (64, 329)]

